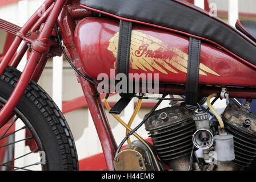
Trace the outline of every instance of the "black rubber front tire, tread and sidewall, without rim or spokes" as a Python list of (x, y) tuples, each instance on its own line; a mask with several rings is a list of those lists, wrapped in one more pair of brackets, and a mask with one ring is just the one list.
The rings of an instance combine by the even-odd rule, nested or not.
[[(7, 100), (21, 72), (7, 67), (0, 79), (0, 96)], [(30, 81), (16, 108), (41, 140), (47, 170), (78, 170), (77, 150), (70, 128), (57, 105), (37, 83)]]

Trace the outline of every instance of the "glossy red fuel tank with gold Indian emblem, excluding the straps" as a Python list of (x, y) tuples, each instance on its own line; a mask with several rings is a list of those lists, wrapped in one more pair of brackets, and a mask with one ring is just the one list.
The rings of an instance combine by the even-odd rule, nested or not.
[[(118, 36), (116, 19), (85, 18), (78, 23), (75, 46), (88, 76), (113, 76), (110, 70), (116, 65)], [(158, 73), (159, 82), (185, 84), (188, 48), (189, 38), (185, 35), (134, 23), (129, 73)], [(254, 68), (202, 42), (199, 84), (255, 87), (255, 78)]]

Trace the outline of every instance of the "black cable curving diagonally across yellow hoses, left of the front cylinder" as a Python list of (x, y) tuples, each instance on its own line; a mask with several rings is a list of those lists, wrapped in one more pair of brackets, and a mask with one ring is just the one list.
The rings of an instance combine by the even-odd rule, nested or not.
[[(165, 98), (167, 96), (167, 94), (163, 94), (162, 98)], [(150, 111), (149, 114), (146, 115), (146, 117), (142, 120), (141, 123), (139, 123), (138, 126), (136, 126), (133, 130), (131, 130), (126, 137), (122, 140), (122, 142), (119, 144), (118, 148), (117, 148), (117, 152), (115, 152), (115, 157), (117, 156), (117, 154), (119, 153), (119, 151), (121, 150), (121, 147), (123, 146), (123, 144), (125, 143), (125, 141), (135, 132), (137, 131), (146, 121), (147, 119), (149, 119), (149, 117), (151, 116), (151, 114), (155, 111), (155, 109), (157, 109), (157, 107), (161, 104), (163, 100), (159, 100), (157, 102), (157, 104), (153, 107), (153, 109)], [(113, 167), (113, 171), (114, 171), (114, 167)]]

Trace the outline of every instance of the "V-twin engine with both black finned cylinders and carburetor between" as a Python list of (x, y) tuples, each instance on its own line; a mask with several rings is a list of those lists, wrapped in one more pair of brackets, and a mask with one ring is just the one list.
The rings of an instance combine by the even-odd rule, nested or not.
[(226, 107), (225, 130), (204, 110), (174, 104), (145, 123), (156, 155), (174, 171), (237, 171), (256, 168), (256, 114), (247, 104)]

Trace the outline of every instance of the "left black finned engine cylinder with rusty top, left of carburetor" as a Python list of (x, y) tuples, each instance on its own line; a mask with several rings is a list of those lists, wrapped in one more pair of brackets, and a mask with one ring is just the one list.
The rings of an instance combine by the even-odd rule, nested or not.
[(168, 163), (190, 154), (195, 123), (185, 107), (172, 106), (157, 110), (145, 126), (163, 162)]

